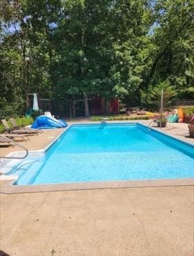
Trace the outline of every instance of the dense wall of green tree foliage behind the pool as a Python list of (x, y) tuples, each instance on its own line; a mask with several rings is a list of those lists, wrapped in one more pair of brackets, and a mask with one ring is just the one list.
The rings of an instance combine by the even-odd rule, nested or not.
[(193, 70), (193, 0), (0, 0), (2, 112), (29, 92), (84, 99), (86, 116), (93, 95), (157, 108), (161, 87), (194, 99)]

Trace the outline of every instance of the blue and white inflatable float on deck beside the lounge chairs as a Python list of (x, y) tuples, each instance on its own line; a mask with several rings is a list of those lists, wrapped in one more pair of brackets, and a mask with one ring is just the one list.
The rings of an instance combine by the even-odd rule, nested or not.
[(37, 119), (32, 123), (31, 128), (37, 129), (55, 129), (55, 128), (65, 128), (68, 126), (66, 121), (61, 119), (56, 119), (55, 117), (48, 117), (42, 115), (37, 117)]

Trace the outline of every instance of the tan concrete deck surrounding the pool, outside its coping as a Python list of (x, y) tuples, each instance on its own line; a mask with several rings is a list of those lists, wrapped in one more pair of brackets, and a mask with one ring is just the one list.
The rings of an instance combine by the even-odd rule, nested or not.
[[(192, 144), (186, 127), (162, 131)], [(39, 149), (59, 133), (46, 130), (21, 143)], [(0, 250), (10, 256), (193, 256), (193, 193), (193, 186), (172, 186), (0, 194)]]

